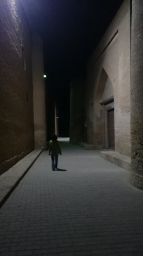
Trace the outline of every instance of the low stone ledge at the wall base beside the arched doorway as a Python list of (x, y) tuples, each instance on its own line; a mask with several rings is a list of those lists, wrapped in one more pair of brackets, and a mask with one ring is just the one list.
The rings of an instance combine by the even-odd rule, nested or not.
[(104, 159), (117, 164), (128, 171), (131, 171), (131, 157), (121, 155), (114, 150), (101, 151), (100, 154)]

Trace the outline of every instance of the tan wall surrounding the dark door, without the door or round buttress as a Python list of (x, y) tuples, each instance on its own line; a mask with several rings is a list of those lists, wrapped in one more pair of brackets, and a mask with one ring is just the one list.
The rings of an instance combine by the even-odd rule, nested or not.
[[(87, 66), (87, 142), (103, 145), (102, 70), (109, 77), (115, 103), (115, 150), (130, 156), (130, 1), (125, 0), (97, 45)], [(101, 79), (102, 78), (102, 79)], [(101, 93), (102, 92), (102, 93)], [(105, 92), (106, 94), (108, 93)], [(109, 89), (110, 95), (110, 89)], [(106, 95), (107, 97), (107, 95)], [(101, 110), (101, 111), (100, 111)]]

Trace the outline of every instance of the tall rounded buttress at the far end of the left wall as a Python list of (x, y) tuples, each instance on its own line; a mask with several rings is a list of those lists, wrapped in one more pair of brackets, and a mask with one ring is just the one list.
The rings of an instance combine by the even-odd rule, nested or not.
[(33, 71), (33, 109), (34, 109), (34, 144), (35, 148), (46, 146), (46, 96), (43, 78), (42, 39), (33, 34), (32, 50)]

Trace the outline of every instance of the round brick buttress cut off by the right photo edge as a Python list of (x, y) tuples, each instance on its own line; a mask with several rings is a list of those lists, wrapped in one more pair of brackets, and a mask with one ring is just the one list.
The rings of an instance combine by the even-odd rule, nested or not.
[(131, 26), (131, 184), (143, 190), (143, 2), (132, 0)]

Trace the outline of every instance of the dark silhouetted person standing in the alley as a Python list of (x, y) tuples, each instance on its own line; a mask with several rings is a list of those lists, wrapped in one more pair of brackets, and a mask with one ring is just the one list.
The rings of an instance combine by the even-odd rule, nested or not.
[(61, 147), (57, 140), (57, 135), (54, 134), (49, 142), (49, 155), (51, 155), (51, 168), (53, 171), (58, 170), (58, 155), (62, 155)]

